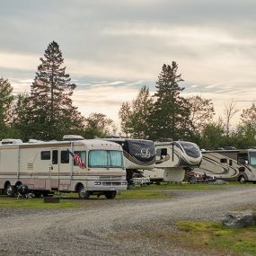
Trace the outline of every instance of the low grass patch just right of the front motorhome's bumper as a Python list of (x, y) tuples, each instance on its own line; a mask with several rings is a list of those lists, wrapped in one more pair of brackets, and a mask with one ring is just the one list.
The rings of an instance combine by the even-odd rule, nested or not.
[(117, 199), (170, 199), (171, 195), (165, 194), (159, 190), (132, 190), (122, 191), (121, 195), (117, 195)]

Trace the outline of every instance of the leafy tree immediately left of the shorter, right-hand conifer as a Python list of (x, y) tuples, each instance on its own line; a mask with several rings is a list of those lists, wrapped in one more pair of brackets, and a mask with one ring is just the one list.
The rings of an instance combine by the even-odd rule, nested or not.
[(130, 103), (124, 102), (119, 110), (121, 128), (128, 136), (135, 138), (148, 137), (148, 117), (153, 108), (153, 98), (149, 93), (149, 88), (143, 86), (137, 98)]

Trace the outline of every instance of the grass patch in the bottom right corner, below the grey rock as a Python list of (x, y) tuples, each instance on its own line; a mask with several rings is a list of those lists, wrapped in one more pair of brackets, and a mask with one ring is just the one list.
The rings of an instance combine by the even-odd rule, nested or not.
[(256, 255), (256, 227), (229, 228), (219, 223), (180, 221), (181, 236), (188, 237), (187, 246), (222, 252)]

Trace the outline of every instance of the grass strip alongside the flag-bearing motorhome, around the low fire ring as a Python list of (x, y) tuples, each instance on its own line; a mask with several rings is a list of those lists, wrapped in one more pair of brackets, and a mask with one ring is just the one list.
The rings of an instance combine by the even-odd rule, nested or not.
[(80, 207), (79, 200), (60, 199), (59, 203), (44, 203), (43, 199), (10, 199), (0, 198), (2, 208), (74, 208)]

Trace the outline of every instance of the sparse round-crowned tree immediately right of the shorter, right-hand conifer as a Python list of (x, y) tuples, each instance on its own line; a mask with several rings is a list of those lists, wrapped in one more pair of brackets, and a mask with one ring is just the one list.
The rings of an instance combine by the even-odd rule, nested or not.
[(201, 132), (207, 124), (213, 121), (215, 115), (214, 104), (209, 99), (204, 99), (199, 95), (187, 97), (190, 108), (190, 120), (193, 127)]

